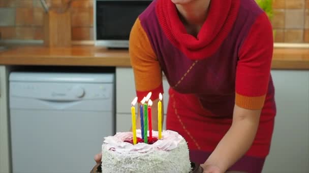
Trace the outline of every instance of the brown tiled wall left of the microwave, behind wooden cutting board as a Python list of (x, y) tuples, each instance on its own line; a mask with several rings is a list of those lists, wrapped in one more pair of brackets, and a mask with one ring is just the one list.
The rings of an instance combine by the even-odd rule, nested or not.
[[(53, 8), (61, 1), (47, 0)], [(73, 1), (71, 26), (73, 40), (93, 39), (93, 0)], [(0, 0), (0, 32), (2, 39), (43, 39), (44, 10), (40, 0)]]

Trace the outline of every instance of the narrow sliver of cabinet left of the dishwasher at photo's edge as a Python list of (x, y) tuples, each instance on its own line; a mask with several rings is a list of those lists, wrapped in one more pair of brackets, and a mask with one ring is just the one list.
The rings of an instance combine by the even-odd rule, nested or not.
[(0, 172), (10, 172), (8, 131), (8, 69), (0, 65)]

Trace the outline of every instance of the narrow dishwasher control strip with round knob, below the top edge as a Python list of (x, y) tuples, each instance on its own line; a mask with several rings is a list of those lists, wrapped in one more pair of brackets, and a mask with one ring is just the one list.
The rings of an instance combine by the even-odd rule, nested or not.
[(11, 82), (13, 97), (44, 100), (109, 99), (112, 83)]

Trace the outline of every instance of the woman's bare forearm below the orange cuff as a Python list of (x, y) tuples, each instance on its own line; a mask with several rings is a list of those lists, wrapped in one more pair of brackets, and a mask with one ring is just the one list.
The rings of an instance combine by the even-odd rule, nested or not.
[(249, 110), (237, 105), (234, 107), (233, 122), (218, 146), (204, 163), (218, 166), (225, 172), (251, 147), (259, 125), (261, 110)]

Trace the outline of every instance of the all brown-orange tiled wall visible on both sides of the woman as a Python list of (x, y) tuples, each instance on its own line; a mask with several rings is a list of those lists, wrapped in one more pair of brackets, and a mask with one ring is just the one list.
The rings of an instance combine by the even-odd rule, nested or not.
[[(61, 1), (47, 0), (52, 7)], [(275, 42), (309, 42), (309, 0), (272, 0)], [(0, 0), (2, 39), (43, 39), (40, 0)], [(93, 39), (93, 0), (75, 0), (71, 8), (73, 40)]]

